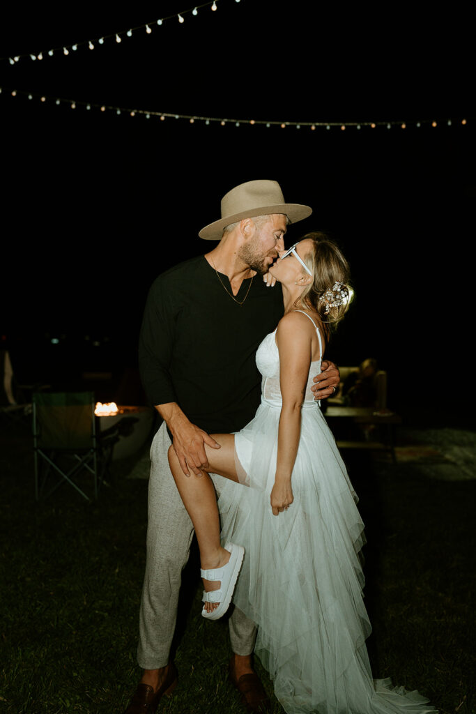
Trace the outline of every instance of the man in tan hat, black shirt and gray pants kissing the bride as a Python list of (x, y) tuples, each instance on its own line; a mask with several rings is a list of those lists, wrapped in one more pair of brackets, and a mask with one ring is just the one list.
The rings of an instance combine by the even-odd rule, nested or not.
[[(208, 466), (209, 436), (238, 431), (255, 415), (260, 375), (255, 351), (283, 314), (280, 288), (261, 276), (284, 249), (288, 223), (312, 209), (285, 203), (275, 181), (248, 181), (223, 196), (221, 219), (199, 236), (220, 241), (159, 276), (149, 292), (139, 345), (147, 396), (164, 423), (151, 449), (146, 575), (141, 600), (138, 663), (143, 677), (124, 714), (153, 713), (177, 674), (169, 653), (176, 624), (181, 571), (193, 527), (168, 468), (171, 439), (184, 472)], [(338, 370), (324, 364), (318, 398), (330, 396)], [(217, 491), (220, 476), (215, 476)], [(255, 625), (235, 608), (229, 620), (231, 681), (248, 711), (268, 700), (253, 670)]]

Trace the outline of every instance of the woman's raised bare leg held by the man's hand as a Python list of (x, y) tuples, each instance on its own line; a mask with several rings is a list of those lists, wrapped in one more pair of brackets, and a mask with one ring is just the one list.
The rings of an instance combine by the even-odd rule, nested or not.
[[(210, 473), (219, 473), (220, 476), (238, 481), (235, 467), (235, 438), (233, 434), (213, 434), (213, 438), (221, 444), (220, 449), (206, 446), (206, 455), (210, 464)], [(200, 562), (204, 570), (208, 568), (221, 568), (228, 563), (230, 553), (222, 548), (220, 543), (220, 519), (216, 505), (216, 493), (213, 482), (206, 471), (203, 476), (191, 473), (186, 476), (178, 462), (173, 446), (168, 450), (168, 463), (171, 467), (178, 492), (183, 505), (191, 518), (200, 548)], [(218, 590), (221, 583), (217, 580), (203, 580), (205, 590)], [(218, 603), (205, 603), (208, 612), (215, 610)]]

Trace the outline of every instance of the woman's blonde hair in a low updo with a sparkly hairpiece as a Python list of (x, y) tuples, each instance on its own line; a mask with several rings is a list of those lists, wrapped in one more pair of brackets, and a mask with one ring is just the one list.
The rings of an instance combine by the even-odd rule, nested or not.
[[(350, 268), (340, 248), (325, 233), (318, 231), (306, 233), (301, 241), (305, 239), (310, 239), (314, 244), (313, 251), (309, 251), (308, 255), (303, 258), (313, 273), (314, 279), (308, 286), (305, 286), (296, 303), (318, 313), (328, 336), (348, 310), (350, 294), (352, 294), (349, 290)], [(337, 301), (340, 302), (338, 305), (329, 300), (329, 295), (333, 294), (335, 283), (341, 283), (350, 293), (348, 299), (342, 302)]]

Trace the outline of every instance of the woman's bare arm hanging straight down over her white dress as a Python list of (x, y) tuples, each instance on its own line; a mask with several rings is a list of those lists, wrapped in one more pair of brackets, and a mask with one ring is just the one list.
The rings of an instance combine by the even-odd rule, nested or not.
[(278, 460), (275, 483), (271, 491), (271, 508), (278, 516), (293, 503), (291, 474), (293, 473), (300, 437), (301, 405), (308, 382), (312, 327), (300, 313), (288, 313), (276, 332), (280, 359), (280, 389), (283, 406), (278, 428)]

